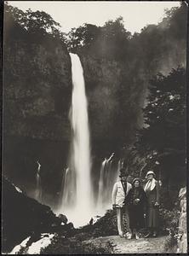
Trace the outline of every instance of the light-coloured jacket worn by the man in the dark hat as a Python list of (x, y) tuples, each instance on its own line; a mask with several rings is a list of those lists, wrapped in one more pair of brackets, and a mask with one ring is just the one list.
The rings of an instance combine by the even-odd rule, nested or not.
[[(126, 195), (128, 195), (129, 190), (131, 188), (132, 188), (131, 183), (127, 182)], [(123, 184), (121, 181), (118, 181), (117, 183), (114, 184), (112, 189), (112, 204), (122, 208), (125, 205), (125, 199), (126, 199), (126, 196), (123, 189)]]

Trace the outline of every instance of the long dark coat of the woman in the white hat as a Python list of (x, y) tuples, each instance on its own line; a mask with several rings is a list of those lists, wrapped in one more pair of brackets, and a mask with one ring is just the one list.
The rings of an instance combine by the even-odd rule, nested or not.
[(159, 224), (159, 209), (154, 206), (155, 202), (159, 204), (159, 183), (156, 180), (155, 188), (146, 190), (147, 197), (147, 211), (146, 211), (146, 225), (148, 228), (158, 228)]

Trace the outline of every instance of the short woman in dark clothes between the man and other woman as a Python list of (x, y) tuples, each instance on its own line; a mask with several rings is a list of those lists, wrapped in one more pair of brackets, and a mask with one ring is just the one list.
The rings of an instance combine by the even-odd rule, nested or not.
[(127, 201), (129, 204), (129, 227), (132, 236), (139, 239), (138, 231), (145, 227), (144, 213), (146, 209), (146, 193), (141, 186), (140, 178), (136, 177), (133, 180)]

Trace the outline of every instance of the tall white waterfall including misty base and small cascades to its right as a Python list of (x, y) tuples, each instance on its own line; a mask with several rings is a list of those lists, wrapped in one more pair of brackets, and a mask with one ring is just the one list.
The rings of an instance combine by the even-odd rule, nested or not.
[[(65, 214), (75, 227), (88, 224), (91, 218), (102, 215), (111, 207), (113, 183), (117, 170), (112, 168), (113, 154), (102, 161), (97, 196), (91, 177), (91, 155), (88, 102), (85, 94), (83, 67), (79, 57), (70, 54), (72, 61), (72, 143), (68, 166), (63, 170), (60, 207), (57, 214)], [(116, 168), (117, 169), (117, 168)]]

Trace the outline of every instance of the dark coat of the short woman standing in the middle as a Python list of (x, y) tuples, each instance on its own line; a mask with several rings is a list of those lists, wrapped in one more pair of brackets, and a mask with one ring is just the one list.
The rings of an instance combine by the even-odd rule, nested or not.
[[(138, 203), (135, 199), (140, 199)], [(144, 211), (146, 208), (146, 193), (144, 189), (132, 188), (127, 195), (129, 204), (129, 221), (130, 229), (141, 229), (145, 227)]]

